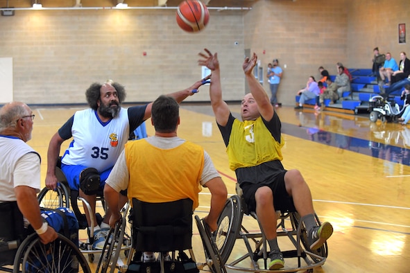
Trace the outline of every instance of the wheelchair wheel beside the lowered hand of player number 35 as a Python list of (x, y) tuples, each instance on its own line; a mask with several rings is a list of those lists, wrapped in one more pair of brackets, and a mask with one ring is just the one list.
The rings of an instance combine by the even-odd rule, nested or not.
[(57, 184), (55, 190), (43, 188), (37, 195), (40, 207), (45, 209), (57, 209), (59, 207), (69, 208), (69, 193), (64, 184)]

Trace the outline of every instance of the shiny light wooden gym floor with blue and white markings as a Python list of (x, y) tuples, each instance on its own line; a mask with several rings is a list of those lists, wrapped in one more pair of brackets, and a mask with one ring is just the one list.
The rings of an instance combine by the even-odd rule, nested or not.
[[(84, 107), (32, 107), (34, 130), (28, 144), (42, 156), (43, 183), (51, 136)], [(239, 115), (239, 104), (230, 108), (234, 116)], [(322, 222), (332, 222), (334, 227), (328, 240), (327, 261), (314, 272), (409, 272), (410, 129), (397, 123), (371, 123), (368, 115), (315, 114), (310, 109), (298, 112), (293, 107), (278, 108), (277, 114), (286, 141), (285, 168), (300, 170), (310, 186), (316, 213)], [(178, 136), (207, 150), (228, 194), (234, 195), (235, 175), (228, 168), (210, 105), (182, 104), (180, 116)], [(153, 135), (150, 120), (146, 129), (148, 135)], [(62, 152), (68, 144), (63, 143)], [(194, 214), (203, 218), (209, 200), (204, 189)], [(243, 224), (251, 230), (257, 227), (255, 220), (247, 216)], [(86, 239), (85, 233), (80, 239)], [(193, 242), (194, 251), (202, 253), (197, 232)], [(237, 241), (229, 261), (245, 250), (244, 243)], [(94, 270), (98, 258), (92, 263)], [(197, 260), (201, 259), (197, 254)]]

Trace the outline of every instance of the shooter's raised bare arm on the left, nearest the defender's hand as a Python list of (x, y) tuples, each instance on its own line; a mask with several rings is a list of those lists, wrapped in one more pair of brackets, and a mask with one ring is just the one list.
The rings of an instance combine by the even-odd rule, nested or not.
[(210, 84), (210, 98), (212, 110), (219, 125), (225, 126), (228, 123), (230, 110), (225, 101), (222, 100), (221, 88), (221, 71), (219, 70), (218, 53), (212, 55), (208, 49), (204, 49), (206, 53), (199, 53), (202, 59), (198, 60), (198, 64), (210, 69), (211, 84)]

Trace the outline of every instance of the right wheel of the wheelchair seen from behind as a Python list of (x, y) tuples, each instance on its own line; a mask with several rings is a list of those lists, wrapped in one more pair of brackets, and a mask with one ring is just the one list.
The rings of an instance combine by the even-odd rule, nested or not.
[(205, 259), (208, 267), (210, 267), (210, 270), (213, 273), (226, 273), (225, 263), (221, 261), (221, 255), (216, 247), (210, 229), (204, 227), (206, 223), (203, 223), (198, 215), (195, 215), (195, 221), (205, 250)]

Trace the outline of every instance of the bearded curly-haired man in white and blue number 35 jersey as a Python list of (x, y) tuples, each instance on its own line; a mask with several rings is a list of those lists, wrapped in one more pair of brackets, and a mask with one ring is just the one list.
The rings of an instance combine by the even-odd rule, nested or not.
[[(203, 85), (203, 81), (195, 82), (191, 87), (169, 96), (178, 103), (191, 96)], [(67, 178), (69, 187), (79, 191), (80, 197), (91, 206), (92, 215), (85, 209), (89, 230), (94, 230), (94, 245), (102, 249), (110, 226), (110, 208), (105, 212), (101, 223), (91, 227), (91, 217), (97, 223), (96, 192), (102, 191), (112, 167), (121, 154), (130, 132), (133, 132), (147, 118), (151, 117), (152, 103), (125, 109), (121, 103), (126, 97), (122, 85), (109, 80), (104, 84), (93, 83), (85, 92), (89, 109), (78, 111), (60, 127), (49, 143), (47, 152), (46, 187), (55, 188), (55, 166), (60, 155), (61, 144), (73, 138), (69, 148), (62, 155), (61, 169)], [(122, 198), (126, 202), (126, 197)]]

